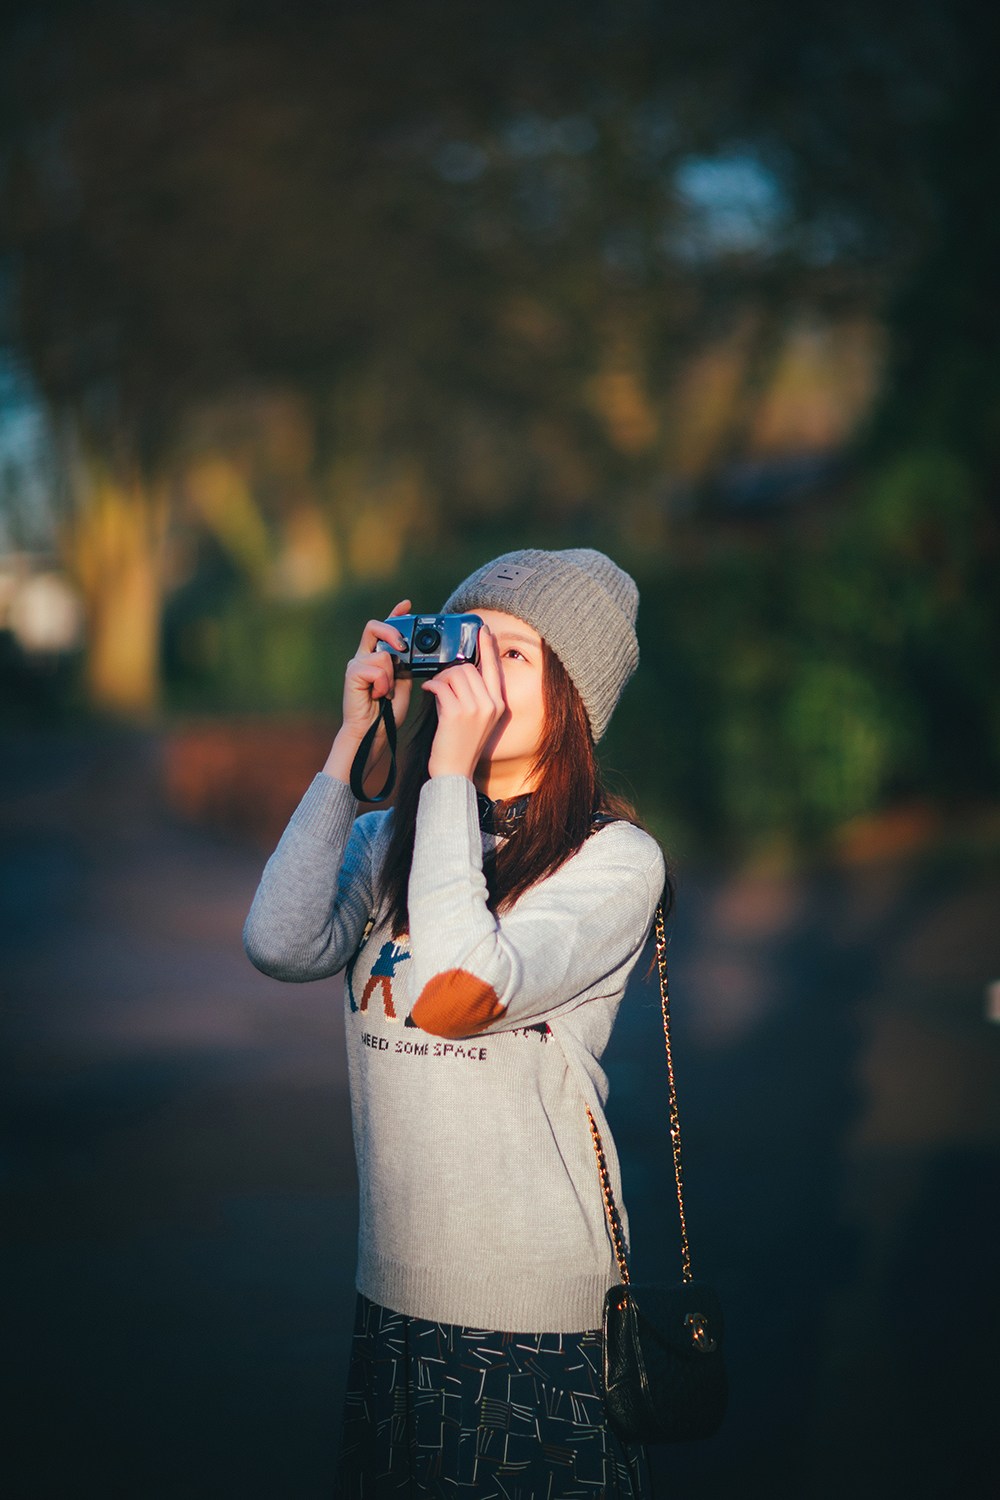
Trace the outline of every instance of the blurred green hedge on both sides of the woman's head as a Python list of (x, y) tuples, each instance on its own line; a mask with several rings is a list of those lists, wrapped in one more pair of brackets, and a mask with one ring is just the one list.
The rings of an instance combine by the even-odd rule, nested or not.
[[(697, 561), (633, 564), (642, 663), (601, 746), (610, 783), (681, 852), (801, 846), (888, 801), (985, 798), (1000, 770), (982, 500), (940, 453), (874, 471), (817, 537), (777, 526)], [(168, 702), (336, 722), (361, 627), (405, 592), (436, 606), (483, 556), (312, 603), (246, 588), (174, 620)], [(564, 538), (567, 540), (567, 538)], [(627, 561), (627, 560), (624, 560)]]

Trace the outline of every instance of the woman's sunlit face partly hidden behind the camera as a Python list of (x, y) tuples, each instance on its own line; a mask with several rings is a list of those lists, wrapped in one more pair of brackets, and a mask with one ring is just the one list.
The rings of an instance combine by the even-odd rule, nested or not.
[(531, 789), (531, 771), (546, 730), (541, 636), (516, 615), (477, 609), (496, 638), (507, 708), (486, 742), (475, 784), (492, 798)]

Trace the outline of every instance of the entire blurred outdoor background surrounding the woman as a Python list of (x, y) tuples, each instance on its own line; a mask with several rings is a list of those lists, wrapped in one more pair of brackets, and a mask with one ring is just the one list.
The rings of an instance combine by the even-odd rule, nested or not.
[[(343, 1130), (336, 1006), (250, 974), (241, 916), (364, 620), (585, 544), (642, 592), (603, 764), (678, 861), (691, 1191), (733, 1317), (729, 1431), (660, 1455), (663, 1492), (993, 1494), (991, 21), (36, 0), (0, 22), (4, 1180), (34, 1350), (7, 1492), (327, 1492), (352, 1164), (297, 1162), (324, 1101)], [(621, 1134), (633, 1196), (661, 1198), (640, 1010)], [(207, 1095), (183, 1113), (192, 1080), (222, 1122)], [(247, 1347), (241, 1278), (277, 1310)], [(114, 1358), (88, 1365), (81, 1306)], [(157, 1467), (150, 1413), (184, 1377), (228, 1395)]]

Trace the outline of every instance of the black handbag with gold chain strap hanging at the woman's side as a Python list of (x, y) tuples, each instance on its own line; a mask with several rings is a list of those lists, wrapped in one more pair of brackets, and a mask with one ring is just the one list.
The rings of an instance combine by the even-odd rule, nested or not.
[(679, 1443), (712, 1437), (721, 1426), (729, 1394), (723, 1359), (723, 1310), (715, 1292), (706, 1282), (694, 1280), (684, 1216), (681, 1125), (670, 1050), (663, 904), (657, 908), (654, 932), (667, 1048), (673, 1179), (681, 1214), (679, 1282), (636, 1284), (628, 1275), (622, 1227), (604, 1148), (594, 1116), (589, 1108), (586, 1112), (597, 1154), (604, 1212), (621, 1275), (621, 1286), (610, 1287), (604, 1298), (604, 1406), (610, 1426), (627, 1443)]

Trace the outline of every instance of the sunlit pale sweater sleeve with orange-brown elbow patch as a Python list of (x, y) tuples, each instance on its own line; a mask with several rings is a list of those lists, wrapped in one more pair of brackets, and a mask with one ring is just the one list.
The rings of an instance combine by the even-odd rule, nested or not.
[(655, 840), (612, 824), (498, 918), (472, 783), (435, 777), (420, 794), (409, 876), (414, 1023), (439, 1036), (508, 1030), (618, 992), (663, 879)]

